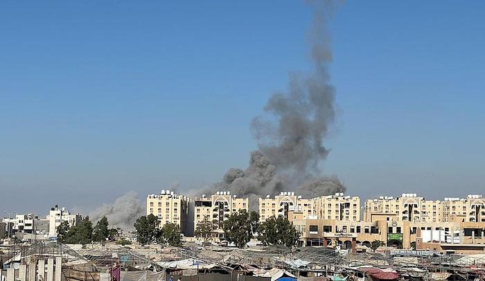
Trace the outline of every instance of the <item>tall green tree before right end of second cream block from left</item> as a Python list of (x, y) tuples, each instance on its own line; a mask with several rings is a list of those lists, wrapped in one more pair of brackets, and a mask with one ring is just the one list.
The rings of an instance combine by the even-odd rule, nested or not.
[(228, 242), (236, 244), (238, 248), (246, 246), (253, 237), (252, 224), (246, 210), (233, 212), (224, 221), (224, 237)]

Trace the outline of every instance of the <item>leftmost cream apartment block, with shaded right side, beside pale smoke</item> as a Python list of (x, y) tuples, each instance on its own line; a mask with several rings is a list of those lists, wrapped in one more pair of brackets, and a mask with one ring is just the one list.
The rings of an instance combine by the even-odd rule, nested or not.
[(146, 199), (146, 214), (159, 219), (159, 227), (177, 224), (186, 236), (193, 235), (193, 201), (170, 190), (150, 194)]

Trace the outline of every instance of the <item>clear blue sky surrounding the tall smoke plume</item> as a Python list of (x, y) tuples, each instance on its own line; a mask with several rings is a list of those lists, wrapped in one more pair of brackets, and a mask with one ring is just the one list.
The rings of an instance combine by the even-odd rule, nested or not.
[[(308, 69), (303, 1), (1, 1), (0, 209), (94, 208), (246, 167)], [(485, 193), (485, 2), (346, 1), (321, 164), (349, 194)]]

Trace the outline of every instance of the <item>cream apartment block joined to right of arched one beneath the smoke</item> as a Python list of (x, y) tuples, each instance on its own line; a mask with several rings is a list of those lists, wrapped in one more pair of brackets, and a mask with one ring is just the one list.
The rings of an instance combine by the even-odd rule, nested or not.
[(343, 192), (313, 199), (317, 218), (339, 221), (360, 221), (360, 198)]

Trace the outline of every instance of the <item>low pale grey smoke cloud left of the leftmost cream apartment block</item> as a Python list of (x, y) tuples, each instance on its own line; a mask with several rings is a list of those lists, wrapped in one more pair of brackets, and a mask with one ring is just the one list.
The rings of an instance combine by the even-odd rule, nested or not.
[(146, 215), (145, 205), (138, 199), (136, 192), (130, 191), (118, 197), (113, 203), (105, 203), (89, 214), (92, 221), (98, 221), (106, 216), (109, 227), (119, 227), (123, 230), (133, 228), (134, 221)]

